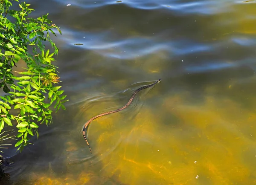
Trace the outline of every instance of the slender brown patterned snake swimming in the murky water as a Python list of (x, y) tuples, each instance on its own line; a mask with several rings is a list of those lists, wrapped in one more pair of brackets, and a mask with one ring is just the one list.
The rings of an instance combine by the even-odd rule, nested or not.
[(149, 85), (145, 85), (145, 86), (140, 87), (139, 89), (135, 90), (134, 93), (132, 93), (130, 100), (128, 101), (128, 103), (127, 103), (125, 106), (123, 106), (123, 107), (121, 107), (121, 108), (119, 108), (119, 109), (116, 109), (116, 110), (112, 110), (112, 111), (109, 111), (109, 112), (102, 113), (102, 114), (99, 114), (99, 115), (97, 115), (97, 116), (94, 116), (93, 118), (89, 119), (89, 120), (84, 124), (83, 136), (84, 136), (85, 142), (87, 143), (87, 145), (88, 145), (88, 147), (89, 147), (89, 149), (90, 149), (90, 153), (91, 153), (91, 154), (92, 154), (92, 149), (91, 149), (91, 147), (90, 147), (90, 145), (89, 145), (89, 142), (87, 141), (87, 137), (86, 137), (86, 136), (87, 136), (87, 130), (88, 130), (89, 124), (90, 124), (94, 119), (96, 119), (96, 118), (99, 118), (99, 117), (101, 117), (101, 116), (105, 116), (105, 115), (108, 115), (108, 114), (117, 113), (117, 112), (119, 112), (119, 111), (121, 111), (121, 110), (124, 110), (126, 107), (128, 107), (128, 106), (131, 104), (131, 102), (133, 101), (135, 95), (136, 95), (138, 92), (140, 92), (141, 90), (147, 89), (147, 88), (149, 88), (149, 87), (152, 87), (152, 86), (154, 86), (155, 84), (158, 84), (160, 81), (161, 81), (161, 78), (158, 79), (157, 81), (155, 81), (153, 84), (149, 84)]

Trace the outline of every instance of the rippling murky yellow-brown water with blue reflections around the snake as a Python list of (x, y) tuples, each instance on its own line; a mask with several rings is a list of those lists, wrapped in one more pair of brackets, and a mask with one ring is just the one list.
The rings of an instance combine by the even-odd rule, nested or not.
[[(61, 27), (55, 64), (70, 101), (34, 145), (6, 152), (13, 184), (256, 183), (255, 1), (27, 3)], [(158, 78), (91, 123), (91, 155), (83, 124)]]

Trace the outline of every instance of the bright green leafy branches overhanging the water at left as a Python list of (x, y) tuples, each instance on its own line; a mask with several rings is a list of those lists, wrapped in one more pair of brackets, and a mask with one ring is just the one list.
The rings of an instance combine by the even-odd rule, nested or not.
[[(18, 4), (19, 10), (11, 9), (12, 3)], [(58, 30), (61, 34), (61, 30), (48, 14), (29, 18), (32, 11), (25, 2), (0, 0), (0, 88), (6, 93), (0, 96), (0, 133), (5, 125), (15, 124), (17, 150), (29, 143), (29, 136), (38, 137), (38, 124), (52, 123), (52, 107), (56, 112), (60, 107), (65, 110), (67, 101), (61, 86), (55, 86), (60, 81), (52, 64), (58, 48), (50, 33), (55, 35)], [(51, 44), (52, 53), (45, 49), (45, 42)], [(22, 61), (27, 67), (16, 71), (17, 62)]]

